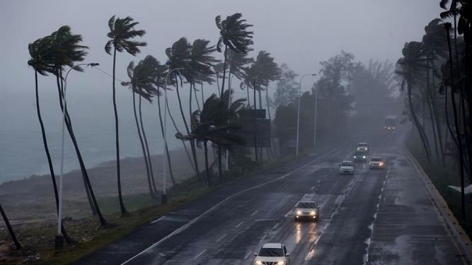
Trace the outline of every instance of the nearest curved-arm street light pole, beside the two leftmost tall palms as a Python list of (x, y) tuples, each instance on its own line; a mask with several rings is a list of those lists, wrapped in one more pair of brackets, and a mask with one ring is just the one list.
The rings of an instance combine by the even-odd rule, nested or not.
[(62, 102), (64, 102), (64, 106), (62, 107), (62, 136), (61, 136), (61, 167), (59, 172), (59, 209), (57, 211), (57, 236), (55, 239), (55, 248), (62, 249), (64, 247), (64, 237), (62, 236), (62, 177), (64, 176), (64, 131), (65, 131), (65, 124), (66, 124), (66, 110), (67, 110), (67, 102), (66, 102), (66, 91), (67, 91), (67, 76), (72, 69), (76, 69), (79, 66), (98, 66), (98, 63), (90, 63), (90, 64), (76, 64), (72, 66), (66, 73), (66, 77), (64, 78), (64, 91), (62, 92)]

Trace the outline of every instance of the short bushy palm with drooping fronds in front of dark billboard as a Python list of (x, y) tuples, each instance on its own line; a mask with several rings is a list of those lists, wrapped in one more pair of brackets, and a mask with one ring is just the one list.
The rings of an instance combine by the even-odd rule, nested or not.
[[(192, 113), (192, 131), (187, 136), (176, 134), (178, 139), (195, 140), (203, 143), (205, 150), (205, 172), (209, 186), (212, 185), (208, 164), (208, 141), (218, 146), (243, 145), (244, 141), (235, 134), (237, 126), (227, 123), (227, 118), (234, 115), (228, 109), (227, 103), (220, 100), (217, 95), (211, 95), (204, 103), (202, 111), (195, 110)], [(220, 154), (221, 155), (221, 154)], [(221, 158), (219, 158), (219, 177), (222, 179)]]

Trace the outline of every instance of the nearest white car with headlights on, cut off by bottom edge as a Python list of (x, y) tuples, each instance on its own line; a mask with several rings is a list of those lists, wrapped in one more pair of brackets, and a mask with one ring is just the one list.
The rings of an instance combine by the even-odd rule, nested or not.
[(266, 243), (259, 252), (254, 253), (255, 265), (289, 265), (290, 254), (282, 243)]

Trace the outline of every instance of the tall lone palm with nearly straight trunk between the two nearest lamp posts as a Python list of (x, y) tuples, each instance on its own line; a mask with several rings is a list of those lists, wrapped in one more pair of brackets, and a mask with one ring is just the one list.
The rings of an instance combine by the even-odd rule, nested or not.
[(125, 204), (123, 203), (121, 190), (121, 172), (120, 172), (120, 137), (118, 134), (118, 112), (116, 107), (116, 89), (115, 89), (115, 69), (116, 69), (116, 52), (123, 52), (125, 50), (132, 56), (136, 56), (139, 52), (139, 47), (146, 46), (146, 42), (138, 42), (134, 37), (142, 37), (146, 34), (144, 30), (135, 30), (134, 27), (138, 22), (133, 22), (133, 18), (127, 16), (126, 18), (115, 18), (112, 16), (108, 20), (108, 27), (110, 32), (107, 34), (110, 40), (105, 45), (105, 52), (111, 55), (113, 49), (113, 110), (115, 112), (115, 145), (116, 145), (116, 170), (117, 170), (117, 184), (118, 184), (118, 200), (120, 201), (120, 211), (122, 216), (127, 216)]

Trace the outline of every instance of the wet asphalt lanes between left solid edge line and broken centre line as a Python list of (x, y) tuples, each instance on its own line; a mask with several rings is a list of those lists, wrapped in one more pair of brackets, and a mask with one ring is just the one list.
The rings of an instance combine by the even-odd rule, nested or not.
[[(376, 139), (372, 139), (374, 148), (377, 141), (383, 141), (379, 136)], [(294, 249), (293, 259), (304, 259), (321, 232), (319, 227), (330, 220), (355, 179), (368, 173), (362, 167), (355, 176), (340, 176), (337, 171), (338, 163), (350, 156), (355, 143), (367, 140), (368, 135), (352, 139), (318, 163), (231, 199), (211, 216), (140, 254), (129, 264), (241, 264), (241, 261), (251, 264), (252, 253), (263, 242), (277, 237), (292, 238), (293, 244), (291, 240), (284, 241), (291, 251)], [(292, 208), (306, 193), (317, 194), (321, 221), (297, 222), (294, 226)]]

